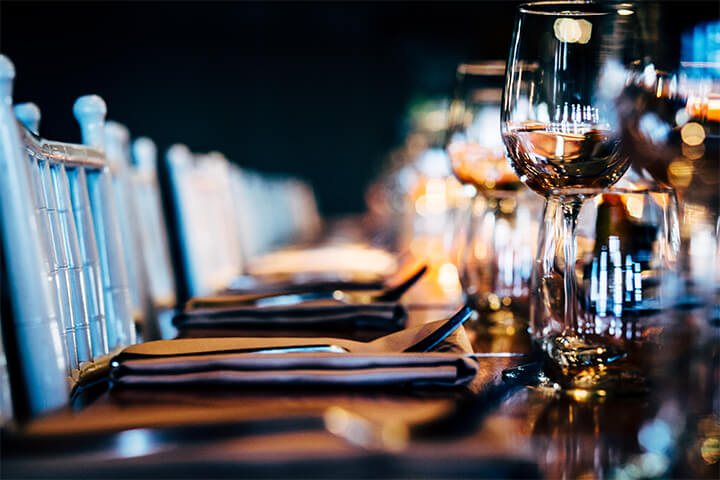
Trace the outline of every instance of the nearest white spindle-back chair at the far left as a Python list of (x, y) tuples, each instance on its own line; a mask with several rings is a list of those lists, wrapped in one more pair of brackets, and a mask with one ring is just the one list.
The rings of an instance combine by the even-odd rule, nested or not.
[(84, 145), (45, 140), (36, 106), (10, 108), (13, 77), (0, 56), (2, 333), (12, 347), (13, 405), (34, 415), (66, 403), (84, 371), (135, 342), (135, 327), (104, 153), (105, 103), (75, 103)]

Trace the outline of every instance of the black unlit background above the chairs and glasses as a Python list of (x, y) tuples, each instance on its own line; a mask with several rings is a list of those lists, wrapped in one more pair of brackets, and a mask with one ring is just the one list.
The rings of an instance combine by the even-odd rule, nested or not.
[[(45, 137), (79, 141), (72, 104), (97, 93), (161, 151), (302, 176), (332, 215), (363, 209), (413, 99), (448, 95), (463, 59), (505, 59), (518, 3), (2, 1), (0, 51)], [(670, 66), (678, 34), (718, 8), (654, 7)]]

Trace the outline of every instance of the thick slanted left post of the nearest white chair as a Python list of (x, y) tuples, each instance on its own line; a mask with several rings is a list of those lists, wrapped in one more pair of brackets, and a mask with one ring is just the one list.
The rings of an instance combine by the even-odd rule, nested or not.
[(67, 401), (68, 383), (57, 304), (51, 296), (27, 161), (12, 105), (15, 69), (0, 55), (0, 230), (2, 231), (2, 330), (15, 366), (14, 405), (34, 415)]

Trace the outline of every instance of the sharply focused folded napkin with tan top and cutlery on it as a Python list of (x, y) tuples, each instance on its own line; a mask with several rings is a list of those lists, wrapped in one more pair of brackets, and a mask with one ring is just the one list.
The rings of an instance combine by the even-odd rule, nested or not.
[[(112, 361), (116, 385), (444, 385), (469, 383), (475, 360), (402, 353), (445, 320), (372, 342), (342, 338), (189, 338), (132, 345)], [(333, 353), (339, 352), (339, 353)]]

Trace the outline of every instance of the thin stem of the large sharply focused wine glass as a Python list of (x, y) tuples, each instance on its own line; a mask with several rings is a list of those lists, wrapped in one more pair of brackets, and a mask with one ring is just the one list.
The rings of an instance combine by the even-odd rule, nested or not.
[(576, 336), (577, 325), (577, 280), (575, 278), (575, 227), (577, 216), (580, 213), (582, 198), (568, 197), (563, 201), (563, 250), (565, 256), (565, 271), (563, 272), (563, 286), (565, 293), (565, 312), (563, 318), (563, 336)]

